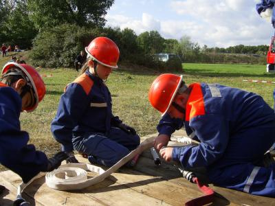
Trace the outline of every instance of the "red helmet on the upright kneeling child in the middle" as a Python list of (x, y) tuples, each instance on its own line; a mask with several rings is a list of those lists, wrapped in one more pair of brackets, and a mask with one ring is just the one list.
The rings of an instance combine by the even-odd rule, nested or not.
[(85, 47), (88, 56), (96, 60), (101, 65), (111, 68), (118, 68), (118, 58), (120, 57), (120, 50), (118, 46), (111, 41), (110, 38), (100, 36), (94, 38), (88, 47)]

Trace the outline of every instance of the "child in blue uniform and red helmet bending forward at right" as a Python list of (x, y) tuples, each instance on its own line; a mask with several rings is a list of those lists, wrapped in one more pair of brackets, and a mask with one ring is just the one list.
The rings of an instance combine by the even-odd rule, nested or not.
[[(275, 197), (275, 163), (263, 161), (275, 141), (275, 114), (261, 96), (220, 84), (187, 87), (182, 76), (164, 74), (149, 98), (162, 112), (155, 148), (166, 161), (187, 170), (206, 167), (210, 181), (221, 187)], [(163, 148), (182, 126), (200, 144)]]

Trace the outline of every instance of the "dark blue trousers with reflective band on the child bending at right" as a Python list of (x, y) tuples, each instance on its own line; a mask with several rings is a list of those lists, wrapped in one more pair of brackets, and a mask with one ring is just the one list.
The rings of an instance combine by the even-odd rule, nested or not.
[(274, 140), (275, 126), (233, 135), (223, 157), (208, 166), (210, 181), (221, 187), (275, 197), (275, 163), (263, 165), (264, 154)]

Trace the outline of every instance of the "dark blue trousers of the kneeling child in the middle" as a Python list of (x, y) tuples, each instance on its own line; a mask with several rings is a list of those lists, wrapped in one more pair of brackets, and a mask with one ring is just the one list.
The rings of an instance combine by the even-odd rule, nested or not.
[(73, 144), (75, 150), (89, 156), (91, 163), (111, 167), (140, 145), (140, 137), (128, 134), (120, 128), (111, 127), (108, 135), (85, 133), (74, 137)]

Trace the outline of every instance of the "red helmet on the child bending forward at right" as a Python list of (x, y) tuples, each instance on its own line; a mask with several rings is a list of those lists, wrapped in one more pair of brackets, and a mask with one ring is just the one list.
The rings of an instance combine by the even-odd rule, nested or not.
[(182, 75), (177, 76), (172, 73), (164, 73), (153, 81), (148, 98), (153, 108), (160, 111), (162, 116), (170, 108), (181, 82)]

